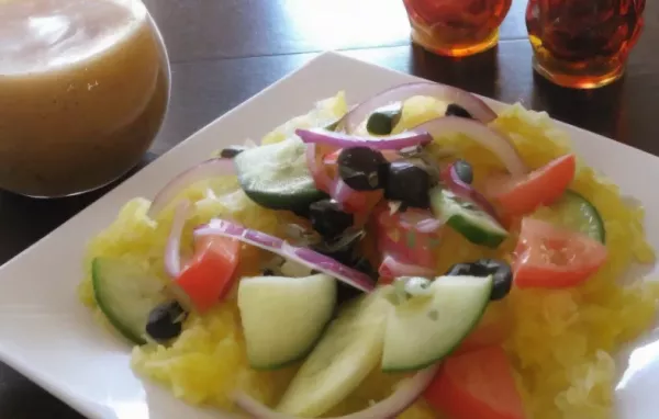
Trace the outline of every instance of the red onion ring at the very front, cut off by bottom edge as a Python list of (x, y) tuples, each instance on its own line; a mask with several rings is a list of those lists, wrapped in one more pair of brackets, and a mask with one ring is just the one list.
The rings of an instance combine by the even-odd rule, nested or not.
[[(331, 419), (394, 419), (422, 396), (435, 377), (437, 369), (437, 365), (433, 365), (417, 372), (403, 382), (391, 396), (361, 411)], [(245, 393), (234, 394), (233, 399), (238, 407), (256, 419), (301, 419), (272, 410)]]

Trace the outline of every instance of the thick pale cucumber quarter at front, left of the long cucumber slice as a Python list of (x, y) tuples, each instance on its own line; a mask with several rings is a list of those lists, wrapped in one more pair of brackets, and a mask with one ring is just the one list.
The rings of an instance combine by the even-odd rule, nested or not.
[(313, 348), (336, 304), (336, 280), (257, 276), (238, 285), (247, 359), (257, 370), (272, 370), (302, 359)]

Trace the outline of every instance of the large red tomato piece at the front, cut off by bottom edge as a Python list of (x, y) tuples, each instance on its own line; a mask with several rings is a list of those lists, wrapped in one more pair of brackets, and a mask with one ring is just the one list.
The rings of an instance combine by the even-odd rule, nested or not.
[(501, 347), (448, 358), (425, 390), (451, 419), (524, 419), (513, 370)]

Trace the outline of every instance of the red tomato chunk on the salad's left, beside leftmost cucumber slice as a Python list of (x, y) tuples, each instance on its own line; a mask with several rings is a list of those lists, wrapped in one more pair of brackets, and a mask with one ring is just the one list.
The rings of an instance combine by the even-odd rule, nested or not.
[(182, 298), (199, 313), (209, 310), (231, 291), (239, 250), (237, 240), (225, 237), (198, 240), (194, 256), (174, 280), (174, 290), (185, 293)]

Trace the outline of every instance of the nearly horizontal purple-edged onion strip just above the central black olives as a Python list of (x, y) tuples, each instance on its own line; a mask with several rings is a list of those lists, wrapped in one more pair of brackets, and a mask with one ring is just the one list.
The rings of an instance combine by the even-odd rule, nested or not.
[(342, 148), (362, 146), (377, 150), (400, 150), (401, 148), (425, 145), (433, 140), (429, 134), (416, 129), (389, 137), (357, 137), (322, 128), (295, 129), (295, 134), (306, 144), (325, 144)]

